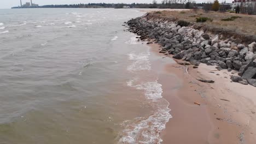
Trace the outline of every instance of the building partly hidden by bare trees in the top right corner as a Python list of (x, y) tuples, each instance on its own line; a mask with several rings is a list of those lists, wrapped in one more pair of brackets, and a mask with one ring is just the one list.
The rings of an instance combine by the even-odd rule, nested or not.
[(240, 7), (240, 12), (245, 14), (256, 15), (256, 0), (235, 0), (232, 2), (231, 8), (235, 10)]

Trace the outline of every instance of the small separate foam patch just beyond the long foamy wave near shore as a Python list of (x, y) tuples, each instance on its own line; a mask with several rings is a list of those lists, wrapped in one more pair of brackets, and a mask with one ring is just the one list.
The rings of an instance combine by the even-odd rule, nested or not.
[(150, 63), (148, 56), (150, 53), (129, 53), (129, 59), (134, 61), (131, 65), (127, 67), (129, 71), (138, 71), (138, 70), (150, 70)]

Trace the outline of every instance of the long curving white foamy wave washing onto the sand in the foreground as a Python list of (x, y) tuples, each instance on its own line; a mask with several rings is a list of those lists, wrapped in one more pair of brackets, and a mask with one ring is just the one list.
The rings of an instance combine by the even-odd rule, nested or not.
[(143, 90), (145, 98), (156, 107), (156, 110), (149, 117), (138, 117), (132, 121), (121, 123), (125, 129), (120, 133), (121, 139), (119, 139), (119, 143), (160, 144), (162, 142), (160, 133), (165, 129), (166, 123), (172, 117), (169, 113), (171, 110), (168, 109), (168, 102), (162, 99), (162, 85), (157, 80), (142, 83), (141, 85), (133, 85), (135, 81), (137, 79), (127, 82), (127, 86)]

